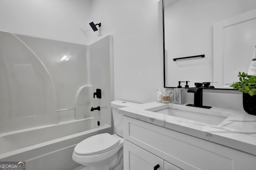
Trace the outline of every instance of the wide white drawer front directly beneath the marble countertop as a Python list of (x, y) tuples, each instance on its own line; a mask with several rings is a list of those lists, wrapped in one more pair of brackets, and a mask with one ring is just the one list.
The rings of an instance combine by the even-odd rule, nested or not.
[(126, 116), (124, 138), (182, 169), (253, 170), (256, 165), (256, 156)]

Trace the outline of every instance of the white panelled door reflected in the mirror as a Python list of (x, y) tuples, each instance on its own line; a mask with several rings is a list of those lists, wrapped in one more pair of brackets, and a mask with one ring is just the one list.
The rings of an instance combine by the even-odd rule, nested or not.
[(214, 23), (213, 81), (215, 88), (229, 88), (248, 72), (256, 45), (256, 9)]

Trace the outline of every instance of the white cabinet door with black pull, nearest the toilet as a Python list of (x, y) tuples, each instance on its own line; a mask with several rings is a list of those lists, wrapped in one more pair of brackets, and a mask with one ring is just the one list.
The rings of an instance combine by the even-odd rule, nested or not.
[(164, 170), (164, 160), (124, 140), (124, 170)]

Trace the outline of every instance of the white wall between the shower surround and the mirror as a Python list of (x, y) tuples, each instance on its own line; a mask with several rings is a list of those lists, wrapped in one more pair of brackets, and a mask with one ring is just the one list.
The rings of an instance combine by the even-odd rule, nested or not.
[(114, 100), (156, 101), (163, 87), (162, 0), (93, 0), (91, 16), (102, 23), (102, 36), (113, 35)]

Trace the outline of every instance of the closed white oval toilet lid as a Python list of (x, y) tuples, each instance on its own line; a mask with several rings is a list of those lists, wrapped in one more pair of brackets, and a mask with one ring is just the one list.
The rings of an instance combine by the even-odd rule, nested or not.
[(94, 135), (76, 145), (74, 152), (81, 156), (101, 154), (117, 147), (119, 139), (109, 133)]

